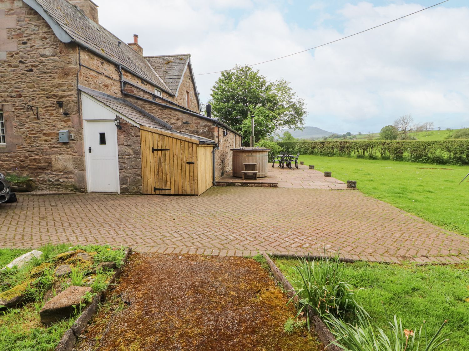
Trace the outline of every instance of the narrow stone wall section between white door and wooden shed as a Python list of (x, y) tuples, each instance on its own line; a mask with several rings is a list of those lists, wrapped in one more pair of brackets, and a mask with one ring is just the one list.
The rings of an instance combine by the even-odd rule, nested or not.
[(142, 193), (142, 152), (140, 129), (121, 119), (121, 130), (117, 130), (119, 150), (119, 178), (121, 193)]

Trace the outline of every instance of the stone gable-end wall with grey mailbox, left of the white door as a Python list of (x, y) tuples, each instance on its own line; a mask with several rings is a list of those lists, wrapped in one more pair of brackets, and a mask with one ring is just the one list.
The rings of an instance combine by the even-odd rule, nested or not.
[[(76, 45), (61, 43), (23, 1), (0, 2), (0, 106), (7, 133), (0, 170), (29, 174), (39, 189), (86, 188), (77, 59)], [(59, 143), (61, 129), (75, 140)]]

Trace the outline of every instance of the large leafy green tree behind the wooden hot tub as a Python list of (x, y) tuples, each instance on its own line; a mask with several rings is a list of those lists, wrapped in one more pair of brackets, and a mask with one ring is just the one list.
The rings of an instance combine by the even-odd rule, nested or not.
[(283, 128), (302, 129), (306, 107), (289, 82), (283, 79), (269, 81), (251, 67), (235, 68), (222, 72), (212, 88), (213, 117), (244, 135), (248, 128), (246, 120), (249, 119), (250, 123), (250, 115), (256, 116), (257, 109), (262, 108), (257, 117), (261, 118), (259, 116), (262, 115), (262, 118), (269, 120), (267, 128), (267, 121), (262, 121), (262, 128), (270, 133), (266, 136)]

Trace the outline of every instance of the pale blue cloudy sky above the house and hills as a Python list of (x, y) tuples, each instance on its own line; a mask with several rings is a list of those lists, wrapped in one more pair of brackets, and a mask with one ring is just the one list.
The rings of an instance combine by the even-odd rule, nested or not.
[[(99, 22), (144, 55), (190, 53), (196, 74), (254, 64), (370, 28), (439, 0), (94, 0)], [(469, 126), (469, 1), (445, 4), (355, 37), (255, 66), (291, 82), (306, 124), (378, 132), (404, 114)], [(203, 102), (219, 73), (196, 76)]]

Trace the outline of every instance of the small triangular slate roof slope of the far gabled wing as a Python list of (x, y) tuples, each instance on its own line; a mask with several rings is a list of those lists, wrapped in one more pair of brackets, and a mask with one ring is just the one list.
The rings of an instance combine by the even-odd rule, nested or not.
[(176, 94), (182, 75), (189, 63), (190, 54), (145, 56), (145, 59), (164, 80), (173, 94)]

